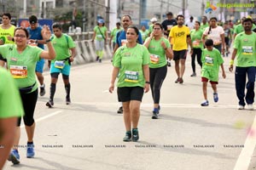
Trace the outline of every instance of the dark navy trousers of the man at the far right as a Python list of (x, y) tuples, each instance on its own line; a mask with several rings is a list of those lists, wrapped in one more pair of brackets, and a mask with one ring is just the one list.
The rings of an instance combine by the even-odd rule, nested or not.
[[(247, 81), (248, 79), (248, 81)], [(239, 105), (253, 104), (254, 102), (254, 82), (255, 82), (255, 67), (236, 67), (236, 96), (239, 99)], [(247, 82), (246, 82), (247, 81)], [(245, 94), (247, 88), (247, 94)]]

